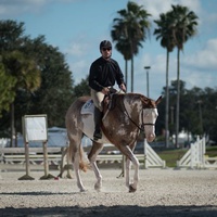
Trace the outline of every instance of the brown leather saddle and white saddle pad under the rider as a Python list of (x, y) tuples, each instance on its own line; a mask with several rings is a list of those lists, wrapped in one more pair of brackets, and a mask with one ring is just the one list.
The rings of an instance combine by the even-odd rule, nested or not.
[[(108, 111), (114, 110), (116, 106), (116, 98), (114, 94), (118, 94), (117, 90), (110, 88), (110, 93), (103, 99), (103, 118), (106, 116)], [(94, 103), (92, 99), (88, 100), (81, 107), (80, 114), (94, 114)]]

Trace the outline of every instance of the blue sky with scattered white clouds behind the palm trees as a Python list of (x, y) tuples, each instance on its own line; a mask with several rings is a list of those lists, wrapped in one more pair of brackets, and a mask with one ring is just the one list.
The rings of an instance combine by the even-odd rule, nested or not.
[[(0, 20), (24, 22), (25, 35), (46, 37), (46, 42), (58, 47), (73, 72), (75, 85), (89, 74), (91, 63), (101, 54), (99, 44), (111, 40), (113, 20), (117, 11), (126, 9), (128, 0), (0, 0)], [(217, 88), (217, 1), (216, 0), (135, 0), (152, 16), (150, 37), (135, 56), (133, 92), (156, 99), (166, 86), (166, 50), (153, 35), (154, 20), (171, 9), (171, 4), (188, 7), (199, 16), (197, 34), (184, 43), (180, 55), (180, 79), (186, 88)], [(115, 43), (113, 43), (113, 47)], [(123, 55), (113, 49), (115, 59), (125, 74)], [(130, 67), (130, 64), (129, 64)], [(128, 75), (130, 77), (130, 75)], [(169, 84), (177, 79), (177, 50), (170, 53)], [(130, 91), (130, 79), (128, 80)]]

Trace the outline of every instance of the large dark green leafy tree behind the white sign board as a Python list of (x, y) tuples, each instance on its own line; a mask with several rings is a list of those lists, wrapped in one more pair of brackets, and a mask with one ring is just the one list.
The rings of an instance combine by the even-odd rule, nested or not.
[[(74, 99), (72, 72), (58, 48), (47, 44), (43, 36), (36, 39), (24, 36), (23, 26), (13, 21), (0, 22), (0, 56), (4, 61), (0, 60), (0, 77), (7, 79), (5, 89), (11, 87), (15, 95), (11, 100), (10, 93), (10, 102), (15, 106), (14, 125), (21, 131), (23, 115), (47, 114), (49, 126), (64, 126), (66, 110)], [(39, 85), (37, 72), (40, 72), (40, 87), (35, 90)], [(14, 84), (9, 78), (15, 79)], [(5, 92), (3, 98), (9, 98)], [(4, 110), (1, 130), (9, 128), (9, 115)]]

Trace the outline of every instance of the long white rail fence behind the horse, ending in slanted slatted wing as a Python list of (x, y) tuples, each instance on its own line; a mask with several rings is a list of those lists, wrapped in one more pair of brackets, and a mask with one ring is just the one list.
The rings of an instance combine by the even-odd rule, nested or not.
[[(165, 161), (161, 159), (159, 156), (154, 152), (154, 150), (145, 142), (144, 144), (144, 154), (136, 154), (141, 166), (144, 168), (150, 167), (165, 167)], [(90, 146), (84, 148), (85, 152), (90, 151)], [(123, 154), (107, 154), (116, 153), (118, 150), (115, 146), (104, 146), (103, 154), (99, 154), (97, 162), (99, 165), (106, 164), (112, 166), (113, 163), (118, 163), (123, 165)], [(34, 166), (40, 166), (43, 164), (43, 148), (28, 148), (28, 158), (30, 168)], [(69, 162), (67, 159), (67, 148), (47, 148), (48, 152), (48, 163), (49, 166), (52, 165), (52, 168), (58, 168), (61, 171), (65, 167), (68, 168)], [(26, 163), (25, 148), (0, 148), (0, 169), (15, 169), (23, 168), (23, 165)], [(16, 166), (15, 166), (16, 165)], [(56, 167), (54, 167), (54, 165)], [(18, 167), (20, 166), (20, 167)], [(41, 167), (42, 168), (42, 167)], [(72, 168), (72, 166), (71, 166)]]

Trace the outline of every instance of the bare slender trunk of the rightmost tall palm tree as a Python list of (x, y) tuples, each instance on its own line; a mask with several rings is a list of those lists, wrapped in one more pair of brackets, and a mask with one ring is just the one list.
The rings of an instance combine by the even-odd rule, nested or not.
[(179, 101), (180, 101), (180, 49), (177, 52), (177, 110), (176, 110), (176, 148), (178, 148), (179, 136)]

